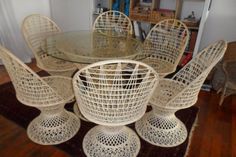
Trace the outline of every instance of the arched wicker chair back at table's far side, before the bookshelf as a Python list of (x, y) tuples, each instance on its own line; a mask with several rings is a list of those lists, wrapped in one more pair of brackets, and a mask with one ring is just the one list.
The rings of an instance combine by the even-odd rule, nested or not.
[(126, 37), (133, 33), (129, 17), (114, 10), (100, 14), (94, 21), (93, 30), (109, 36)]

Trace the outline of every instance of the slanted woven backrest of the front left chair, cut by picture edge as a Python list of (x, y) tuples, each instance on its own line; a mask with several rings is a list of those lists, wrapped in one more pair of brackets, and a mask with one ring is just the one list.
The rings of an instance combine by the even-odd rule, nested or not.
[(0, 47), (0, 51), (0, 58), (9, 73), (20, 102), (34, 107), (65, 103), (65, 100), (28, 66), (5, 48)]

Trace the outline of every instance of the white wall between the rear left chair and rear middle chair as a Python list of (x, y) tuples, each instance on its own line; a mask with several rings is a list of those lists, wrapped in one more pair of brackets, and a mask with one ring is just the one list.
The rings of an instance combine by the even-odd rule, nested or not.
[(52, 19), (63, 31), (92, 28), (93, 0), (50, 0)]

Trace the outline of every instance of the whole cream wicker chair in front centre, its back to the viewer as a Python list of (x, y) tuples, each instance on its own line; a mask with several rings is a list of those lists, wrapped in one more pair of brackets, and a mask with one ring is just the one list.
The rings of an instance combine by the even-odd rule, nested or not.
[(159, 80), (146, 64), (132, 60), (97, 62), (78, 71), (73, 87), (81, 113), (99, 124), (84, 137), (87, 156), (136, 156), (140, 140), (124, 126), (140, 119)]

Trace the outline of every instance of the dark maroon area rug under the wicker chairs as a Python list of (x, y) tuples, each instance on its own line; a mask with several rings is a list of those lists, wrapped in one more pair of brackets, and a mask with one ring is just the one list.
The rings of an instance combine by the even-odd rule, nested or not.
[[(44, 73), (41, 73), (44, 75)], [(73, 103), (66, 104), (66, 109), (72, 111)], [(188, 133), (191, 132), (192, 126), (196, 120), (198, 108), (192, 106), (188, 109), (180, 110), (176, 113), (177, 117), (185, 124)], [(36, 108), (28, 107), (17, 101), (15, 96), (15, 90), (12, 84), (6, 83), (0, 85), (0, 114), (22, 126), (27, 128), (29, 122), (34, 119), (38, 114), (39, 110)], [(71, 156), (85, 156), (82, 149), (83, 137), (89, 129), (95, 124), (81, 121), (81, 128), (79, 132), (69, 141), (56, 145), (61, 150), (64, 150)], [(134, 129), (134, 124), (129, 125)], [(162, 148), (153, 146), (143, 140), (141, 140), (141, 150), (139, 157), (183, 157), (188, 147), (188, 139), (181, 145), (173, 148)]]

